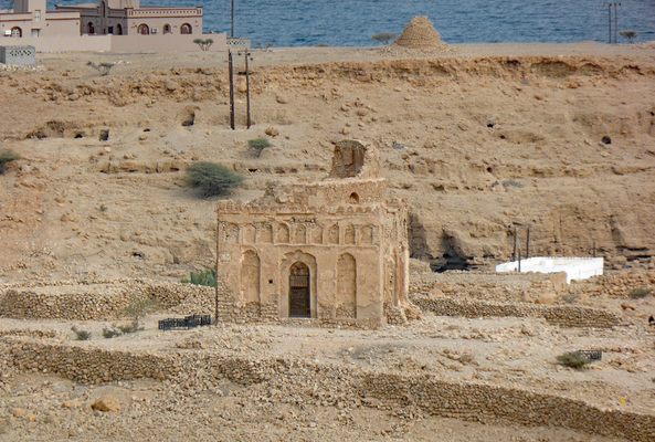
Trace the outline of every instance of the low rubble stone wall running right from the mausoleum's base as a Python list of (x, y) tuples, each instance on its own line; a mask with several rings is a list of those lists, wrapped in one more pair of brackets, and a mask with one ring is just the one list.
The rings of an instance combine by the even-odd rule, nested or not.
[(431, 295), (413, 295), (412, 302), (421, 309), (441, 316), (478, 317), (541, 317), (563, 327), (610, 328), (621, 324), (620, 318), (606, 311), (569, 305), (536, 305), (528, 303), (492, 303), (457, 299)]

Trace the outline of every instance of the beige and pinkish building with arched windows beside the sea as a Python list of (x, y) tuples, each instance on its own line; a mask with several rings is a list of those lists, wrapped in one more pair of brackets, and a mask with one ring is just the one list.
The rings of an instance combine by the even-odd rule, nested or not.
[(194, 39), (212, 39), (225, 51), (225, 34), (202, 33), (202, 8), (140, 7), (139, 0), (101, 0), (56, 6), (46, 0), (14, 0), (0, 11), (0, 45), (33, 45), (39, 52), (198, 51)]

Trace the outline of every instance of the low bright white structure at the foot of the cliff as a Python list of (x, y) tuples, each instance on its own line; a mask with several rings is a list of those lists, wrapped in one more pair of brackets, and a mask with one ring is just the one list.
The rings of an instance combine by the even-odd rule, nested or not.
[[(603, 274), (602, 257), (535, 256), (520, 262), (520, 273), (567, 273), (567, 283)], [(496, 265), (496, 273), (518, 272), (518, 261)]]

